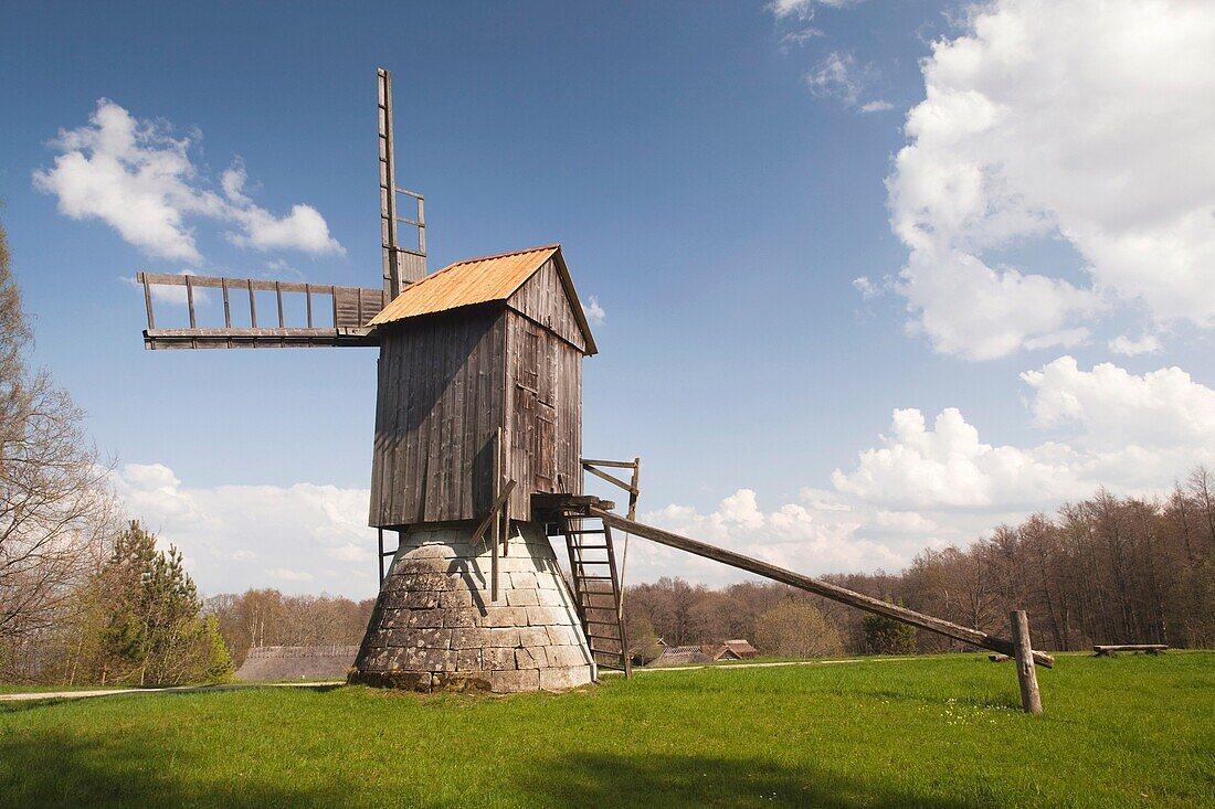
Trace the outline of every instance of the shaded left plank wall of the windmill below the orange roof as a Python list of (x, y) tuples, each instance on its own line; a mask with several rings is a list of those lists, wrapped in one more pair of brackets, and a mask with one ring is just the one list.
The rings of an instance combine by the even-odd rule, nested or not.
[(380, 330), (371, 525), (479, 520), (490, 510), (505, 317), (482, 309)]

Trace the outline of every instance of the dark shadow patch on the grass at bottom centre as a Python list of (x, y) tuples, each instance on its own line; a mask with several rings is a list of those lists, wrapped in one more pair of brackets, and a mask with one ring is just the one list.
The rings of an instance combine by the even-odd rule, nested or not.
[(814, 765), (796, 769), (764, 758), (570, 753), (538, 762), (519, 783), (543, 807), (870, 807), (968, 809), (978, 803), (934, 799), (892, 788), (875, 770), (864, 781)]

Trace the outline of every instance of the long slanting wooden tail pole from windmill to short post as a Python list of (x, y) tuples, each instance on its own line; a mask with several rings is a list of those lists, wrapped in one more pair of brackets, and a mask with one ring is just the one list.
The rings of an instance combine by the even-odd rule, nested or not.
[[(627, 520), (618, 514), (612, 514), (611, 511), (604, 511), (594, 507), (590, 507), (589, 511), (592, 515), (599, 517), (608, 525), (627, 531), (633, 536), (657, 542), (659, 544), (676, 548), (678, 550), (686, 550), (690, 554), (696, 554), (697, 556), (703, 556), (705, 559), (712, 559), (713, 561), (719, 561), (723, 565), (730, 565), (731, 567), (738, 567), (751, 573), (765, 576), (791, 587), (831, 599), (832, 601), (840, 601), (841, 604), (847, 604), (848, 606), (857, 607), (858, 610), (866, 610), (869, 612), (885, 615), (888, 618), (894, 618), (895, 621), (902, 621), (903, 623), (910, 623), (912, 627), (927, 629), (928, 632), (936, 632), (939, 635), (973, 644), (974, 646), (982, 646), (983, 649), (990, 649), (991, 651), (1000, 652), (1001, 655), (1008, 655), (1010, 657), (1016, 655), (1016, 650), (1013, 649), (1011, 640), (996, 638), (987, 634), (985, 632), (979, 632), (978, 629), (962, 627), (950, 621), (942, 621), (940, 618), (934, 618), (929, 615), (916, 612), (915, 610), (908, 610), (906, 607), (902, 607), (895, 604), (881, 601), (869, 595), (864, 595), (863, 593), (857, 593), (854, 590), (849, 590), (848, 588), (824, 582), (823, 579), (795, 573), (791, 570), (778, 567), (776, 565), (770, 565), (751, 556), (736, 554), (733, 550), (725, 550), (724, 548), (718, 548), (703, 542), (697, 542), (696, 539), (682, 537), (678, 533), (671, 533), (669, 531), (655, 528), (634, 520)], [(1034, 661), (1039, 666), (1045, 666), (1046, 668), (1052, 668), (1055, 666), (1055, 658), (1050, 655), (1035, 651), (1033, 656)]]

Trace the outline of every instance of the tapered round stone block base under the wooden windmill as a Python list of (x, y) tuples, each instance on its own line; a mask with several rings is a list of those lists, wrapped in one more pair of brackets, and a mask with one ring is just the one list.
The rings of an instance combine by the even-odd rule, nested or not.
[(595, 678), (556, 555), (536, 524), (510, 528), (491, 602), (491, 549), (475, 526), (409, 530), (347, 680), (412, 691), (561, 690)]

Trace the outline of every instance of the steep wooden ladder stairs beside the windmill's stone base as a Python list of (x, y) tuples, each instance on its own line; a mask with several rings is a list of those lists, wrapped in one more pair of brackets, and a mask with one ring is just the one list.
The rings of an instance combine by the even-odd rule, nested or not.
[(563, 509), (559, 526), (570, 551), (573, 601), (590, 654), (597, 664), (632, 677), (611, 527), (580, 508)]

